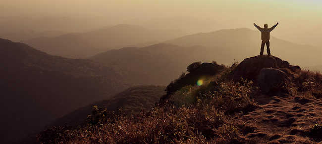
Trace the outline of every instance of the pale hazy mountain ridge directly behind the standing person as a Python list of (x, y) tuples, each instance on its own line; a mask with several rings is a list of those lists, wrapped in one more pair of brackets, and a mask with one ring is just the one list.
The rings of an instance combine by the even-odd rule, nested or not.
[[(271, 33), (273, 33), (272, 31)], [(162, 43), (171, 43), (184, 47), (201, 45), (205, 47), (220, 46), (233, 51), (238, 55), (237, 61), (243, 57), (259, 55), (261, 49), (261, 33), (247, 28), (219, 30), (211, 33), (198, 33), (182, 36)], [(271, 54), (289, 60), (301, 66), (319, 65), (322, 58), (322, 49), (311, 45), (299, 45), (286, 40), (270, 36)], [(265, 52), (266, 53), (266, 46)]]

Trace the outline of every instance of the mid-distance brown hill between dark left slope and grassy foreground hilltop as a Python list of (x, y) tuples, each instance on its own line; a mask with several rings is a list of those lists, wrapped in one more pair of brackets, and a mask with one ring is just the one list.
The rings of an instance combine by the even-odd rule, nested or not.
[(142, 48), (125, 47), (109, 50), (89, 59), (142, 70), (146, 73), (146, 77), (154, 75), (159, 79), (158, 83), (154, 84), (166, 85), (182, 72), (186, 72), (187, 66), (193, 62), (216, 60), (218, 64), (231, 65), (236, 57), (229, 49), (222, 47), (182, 47), (160, 43)]

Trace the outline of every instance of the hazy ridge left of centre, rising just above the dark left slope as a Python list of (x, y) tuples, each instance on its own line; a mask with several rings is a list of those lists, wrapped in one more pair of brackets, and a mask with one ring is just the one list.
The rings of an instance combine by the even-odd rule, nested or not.
[[(71, 55), (72, 58), (84, 55), (83, 58), (86, 58), (110, 49), (121, 48), (123, 45), (164, 41), (184, 35), (186, 33), (179, 30), (150, 30), (141, 26), (116, 25), (103, 30), (43, 39), (36, 37), (22, 42), (52, 55)], [(94, 54), (86, 55), (87, 51), (93, 51)]]

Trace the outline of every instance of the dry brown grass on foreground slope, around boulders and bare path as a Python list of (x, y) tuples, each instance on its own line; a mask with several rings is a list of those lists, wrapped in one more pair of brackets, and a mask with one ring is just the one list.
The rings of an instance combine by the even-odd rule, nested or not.
[[(233, 66), (234, 67), (234, 66)], [(249, 112), (258, 108), (253, 97), (260, 91), (252, 81), (233, 83), (223, 72), (201, 86), (186, 86), (170, 98), (172, 100), (148, 112), (126, 116), (113, 115), (113, 120), (85, 128), (56, 128), (40, 133), (40, 144), (236, 144), (245, 143), (231, 117), (233, 113)], [(321, 98), (322, 75), (318, 72), (291, 73), (288, 90), (293, 95)], [(102, 115), (101, 115), (102, 117)], [(104, 117), (104, 115), (103, 115)], [(312, 127), (321, 132), (321, 125)], [(53, 139), (48, 139), (52, 137)], [(286, 139), (286, 138), (283, 138)]]

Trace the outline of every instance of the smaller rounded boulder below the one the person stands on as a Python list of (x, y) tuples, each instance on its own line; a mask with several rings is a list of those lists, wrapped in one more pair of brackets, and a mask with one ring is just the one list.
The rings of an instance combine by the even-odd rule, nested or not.
[(260, 71), (255, 84), (266, 93), (277, 91), (286, 92), (288, 81), (290, 81), (290, 79), (285, 72), (273, 68), (263, 68)]

